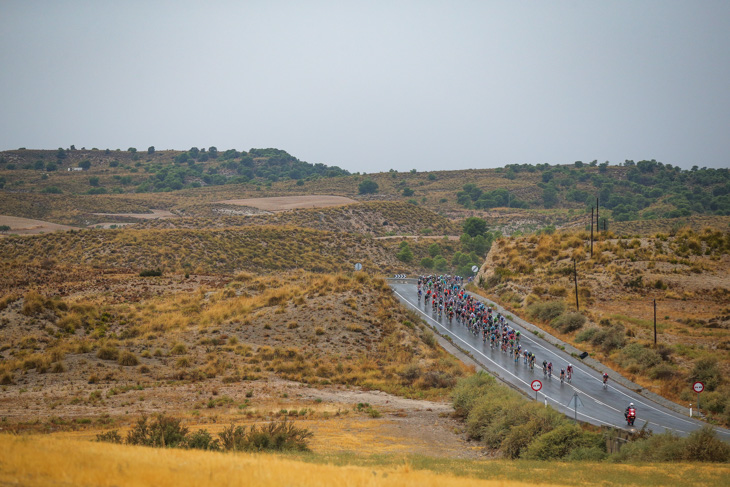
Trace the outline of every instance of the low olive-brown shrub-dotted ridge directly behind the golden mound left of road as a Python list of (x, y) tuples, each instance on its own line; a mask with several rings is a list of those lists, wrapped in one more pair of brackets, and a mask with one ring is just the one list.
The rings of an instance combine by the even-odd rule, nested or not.
[(360, 234), (289, 226), (204, 230), (80, 230), (0, 240), (7, 263), (86, 264), (98, 268), (196, 274), (250, 270), (349, 270), (356, 262), (389, 273), (394, 255)]

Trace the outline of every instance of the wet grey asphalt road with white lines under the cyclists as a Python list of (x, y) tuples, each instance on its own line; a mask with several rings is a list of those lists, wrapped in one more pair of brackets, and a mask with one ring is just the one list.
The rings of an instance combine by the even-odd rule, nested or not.
[[(419, 304), (415, 282), (391, 280), (390, 286), (403, 303), (416, 310), (441, 335), (450, 337), (459, 348), (470, 352), (487, 370), (513, 387), (528, 393), (531, 398), (535, 399), (537, 396), (538, 401), (549, 404), (571, 418), (577, 415), (580, 421), (627, 429), (624, 410), (630, 402), (633, 402), (637, 411), (634, 428), (637, 429), (648, 422), (648, 428), (655, 433), (670, 430), (680, 436), (687, 436), (706, 424), (689, 418), (689, 411), (686, 415), (682, 415), (667, 409), (618, 383), (612, 383), (610, 379), (608, 387), (604, 389), (600, 371), (588, 367), (579, 359), (571, 357), (524, 328), (509, 322), (510, 326), (520, 330), (520, 343), (523, 349), (533, 352), (537, 357), (535, 369), (530, 370), (522, 358), (515, 363), (507, 353), (497, 348), (491, 349), (489, 343), (482, 343), (481, 337), (473, 335), (456, 318), (452, 321), (446, 316), (439, 319), (437, 314), (432, 312), (430, 304), (428, 306), (423, 302)], [(543, 374), (543, 360), (553, 363), (552, 379)], [(568, 363), (573, 364), (573, 378), (571, 383), (566, 381), (561, 384), (560, 369), (565, 368)], [(531, 389), (531, 383), (536, 379), (542, 383), (542, 389), (537, 395)], [(572, 406), (568, 407), (575, 394), (580, 399), (577, 411)], [(730, 441), (729, 430), (717, 428), (716, 431), (719, 438)]]

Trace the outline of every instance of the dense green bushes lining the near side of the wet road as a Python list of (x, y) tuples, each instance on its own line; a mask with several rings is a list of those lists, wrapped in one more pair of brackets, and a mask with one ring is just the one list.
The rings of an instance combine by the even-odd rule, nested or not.
[(523, 396), (480, 372), (454, 388), (456, 414), (470, 438), (507, 458), (608, 462), (729, 462), (730, 446), (711, 426), (681, 438), (641, 431), (618, 453), (606, 450), (611, 430), (575, 424), (565, 415)]

